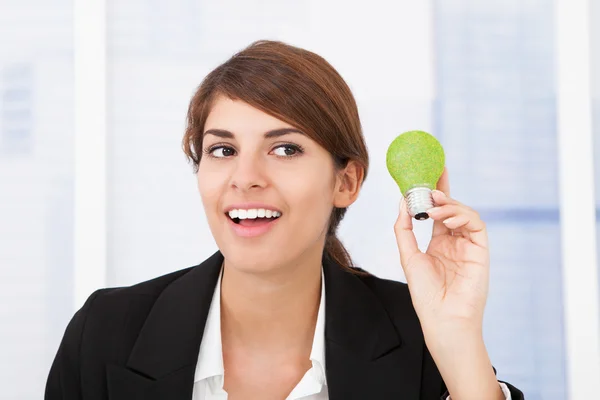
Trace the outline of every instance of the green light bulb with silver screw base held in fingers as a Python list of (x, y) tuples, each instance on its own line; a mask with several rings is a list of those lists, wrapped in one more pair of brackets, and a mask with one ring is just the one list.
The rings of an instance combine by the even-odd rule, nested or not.
[(433, 207), (431, 191), (436, 188), (445, 163), (442, 145), (427, 132), (404, 132), (388, 147), (387, 169), (406, 198), (413, 218), (429, 218), (427, 210)]

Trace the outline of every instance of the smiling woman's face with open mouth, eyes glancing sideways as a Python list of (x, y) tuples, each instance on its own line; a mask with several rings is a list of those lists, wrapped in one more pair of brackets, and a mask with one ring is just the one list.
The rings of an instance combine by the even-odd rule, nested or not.
[(198, 189), (236, 268), (265, 272), (322, 254), (332, 209), (351, 196), (331, 155), (291, 125), (220, 96), (204, 126)]

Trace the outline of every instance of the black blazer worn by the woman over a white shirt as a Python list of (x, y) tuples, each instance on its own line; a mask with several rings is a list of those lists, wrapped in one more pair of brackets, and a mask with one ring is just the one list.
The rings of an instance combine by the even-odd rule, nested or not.
[[(191, 400), (223, 256), (93, 293), (69, 323), (46, 400)], [(439, 400), (445, 385), (404, 283), (357, 276), (327, 257), (325, 357), (331, 400)], [(509, 385), (513, 400), (523, 394)]]

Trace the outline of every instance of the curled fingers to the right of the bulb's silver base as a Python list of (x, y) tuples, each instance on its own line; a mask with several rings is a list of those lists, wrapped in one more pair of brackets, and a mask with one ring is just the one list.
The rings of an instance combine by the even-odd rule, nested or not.
[(443, 205), (429, 209), (427, 213), (446, 230), (459, 231), (476, 245), (487, 247), (486, 226), (475, 210), (456, 200), (448, 200)]

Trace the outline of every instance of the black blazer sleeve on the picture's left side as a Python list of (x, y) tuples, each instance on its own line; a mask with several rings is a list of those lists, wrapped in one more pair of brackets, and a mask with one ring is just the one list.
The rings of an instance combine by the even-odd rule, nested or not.
[(81, 339), (92, 303), (102, 290), (94, 292), (75, 313), (63, 335), (46, 381), (45, 400), (81, 400)]

